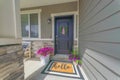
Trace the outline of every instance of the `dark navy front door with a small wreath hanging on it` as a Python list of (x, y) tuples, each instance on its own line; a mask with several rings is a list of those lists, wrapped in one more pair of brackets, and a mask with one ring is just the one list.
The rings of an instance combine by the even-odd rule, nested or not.
[(72, 51), (73, 29), (73, 16), (55, 17), (55, 54)]

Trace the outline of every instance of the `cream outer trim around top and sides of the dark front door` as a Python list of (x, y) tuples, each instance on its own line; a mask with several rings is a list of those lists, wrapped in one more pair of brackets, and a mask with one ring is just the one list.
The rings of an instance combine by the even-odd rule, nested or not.
[[(62, 13), (53, 13), (51, 14), (51, 17), (52, 17), (52, 40), (54, 40), (54, 18), (56, 16), (67, 16), (67, 15), (74, 15), (74, 40), (77, 40), (78, 41), (78, 35), (76, 33), (76, 27), (78, 27), (78, 24), (77, 24), (77, 16), (78, 16), (78, 11), (73, 11), (73, 12), (62, 12)], [(77, 38), (76, 38), (76, 35), (77, 35)]]

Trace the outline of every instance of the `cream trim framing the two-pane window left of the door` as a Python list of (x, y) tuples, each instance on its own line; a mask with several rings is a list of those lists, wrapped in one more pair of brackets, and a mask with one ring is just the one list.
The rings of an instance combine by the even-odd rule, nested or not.
[[(22, 37), (22, 40), (41, 40), (41, 12), (42, 12), (41, 9), (21, 11), (21, 14), (32, 14), (32, 13), (38, 14), (38, 38), (30, 38), (30, 30), (29, 30), (29, 37)], [(30, 19), (28, 19), (28, 20), (30, 20)], [(30, 21), (28, 21), (28, 24), (30, 25), (29, 22)]]

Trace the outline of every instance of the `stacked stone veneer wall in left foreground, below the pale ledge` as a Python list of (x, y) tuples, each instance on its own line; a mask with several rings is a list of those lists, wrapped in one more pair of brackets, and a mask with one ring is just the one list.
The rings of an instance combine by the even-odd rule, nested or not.
[(0, 46), (0, 80), (24, 80), (22, 45)]

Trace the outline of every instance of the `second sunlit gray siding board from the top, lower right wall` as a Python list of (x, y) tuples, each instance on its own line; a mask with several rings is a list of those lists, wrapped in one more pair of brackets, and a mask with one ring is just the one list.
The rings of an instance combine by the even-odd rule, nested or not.
[[(103, 64), (87, 54), (85, 55), (85, 57), (83, 59), (84, 59), (84, 61), (86, 61), (85, 63), (89, 63), (94, 69), (96, 69), (96, 71), (99, 72), (104, 77), (104, 79), (107, 80), (110, 78), (110, 79), (114, 80), (114, 79), (119, 78), (119, 74), (117, 74), (115, 71), (113, 71), (111, 69), (111, 67), (113, 68), (113, 66), (111, 66), (109, 64), (109, 62), (107, 63), (108, 65)], [(96, 72), (95, 72), (95, 74), (96, 74)], [(99, 75), (96, 75), (96, 76), (99, 77)], [(103, 80), (103, 79), (101, 79), (101, 80)]]

